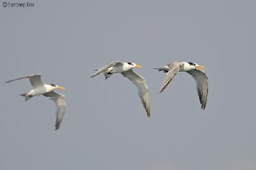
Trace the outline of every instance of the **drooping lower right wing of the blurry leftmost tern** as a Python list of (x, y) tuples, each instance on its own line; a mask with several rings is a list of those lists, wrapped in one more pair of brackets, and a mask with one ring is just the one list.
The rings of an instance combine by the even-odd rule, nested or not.
[(58, 130), (60, 128), (60, 123), (64, 117), (65, 111), (66, 111), (66, 100), (65, 96), (59, 93), (56, 93), (54, 91), (44, 93), (44, 96), (53, 100), (56, 107), (56, 124), (55, 124), (55, 130)]

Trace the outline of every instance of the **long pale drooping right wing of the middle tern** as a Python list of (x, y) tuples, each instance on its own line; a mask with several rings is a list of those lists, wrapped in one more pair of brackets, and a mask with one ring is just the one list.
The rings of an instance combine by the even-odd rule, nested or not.
[(141, 103), (143, 104), (147, 116), (150, 117), (150, 100), (149, 100), (149, 91), (146, 80), (140, 76), (140, 74), (133, 72), (132, 70), (122, 73), (124, 77), (127, 77), (139, 90), (139, 96)]

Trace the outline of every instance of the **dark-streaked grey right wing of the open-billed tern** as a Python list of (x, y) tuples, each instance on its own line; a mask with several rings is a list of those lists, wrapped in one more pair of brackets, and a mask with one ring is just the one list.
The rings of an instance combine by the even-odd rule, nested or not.
[(188, 73), (196, 81), (196, 89), (199, 96), (201, 108), (205, 109), (205, 106), (207, 104), (207, 96), (208, 96), (208, 78), (204, 72), (196, 69), (188, 71)]

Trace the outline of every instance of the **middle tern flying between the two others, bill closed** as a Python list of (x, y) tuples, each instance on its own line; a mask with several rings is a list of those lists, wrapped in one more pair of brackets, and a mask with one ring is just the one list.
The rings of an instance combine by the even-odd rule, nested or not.
[(108, 63), (106, 66), (95, 70), (96, 72), (91, 77), (94, 77), (102, 72), (104, 72), (105, 80), (108, 79), (113, 73), (121, 73), (124, 77), (127, 77), (138, 88), (141, 103), (147, 112), (147, 116), (150, 117), (150, 101), (147, 82), (140, 74), (132, 71), (133, 68), (140, 67), (140, 65), (135, 63), (113, 61)]

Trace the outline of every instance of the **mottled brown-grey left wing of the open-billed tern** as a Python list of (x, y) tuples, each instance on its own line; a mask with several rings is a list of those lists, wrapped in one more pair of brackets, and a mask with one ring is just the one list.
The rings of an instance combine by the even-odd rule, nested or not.
[(180, 66), (182, 66), (182, 64), (183, 63), (181, 63), (181, 62), (176, 62), (175, 61), (175, 62), (172, 62), (172, 63), (167, 65), (169, 67), (169, 71), (166, 74), (166, 77), (164, 79), (164, 83), (163, 83), (163, 86), (160, 90), (160, 93), (162, 93), (164, 91), (164, 89), (172, 82), (175, 75), (179, 72)]

